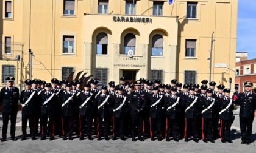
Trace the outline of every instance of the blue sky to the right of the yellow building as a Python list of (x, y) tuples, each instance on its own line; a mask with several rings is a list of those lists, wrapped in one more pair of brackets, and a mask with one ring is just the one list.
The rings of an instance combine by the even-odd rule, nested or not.
[(237, 52), (256, 58), (256, 0), (238, 0)]

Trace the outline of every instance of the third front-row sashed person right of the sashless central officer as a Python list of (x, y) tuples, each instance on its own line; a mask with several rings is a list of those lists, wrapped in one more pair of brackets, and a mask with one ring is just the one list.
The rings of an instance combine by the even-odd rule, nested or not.
[(201, 126), (201, 124), (197, 124), (197, 114), (199, 111), (199, 103), (200, 99), (197, 97), (197, 95), (194, 94), (194, 87), (189, 88), (190, 95), (188, 95), (187, 98), (185, 98), (184, 104), (185, 104), (185, 142), (188, 142), (188, 138), (190, 137), (190, 134), (193, 136), (193, 141), (198, 143), (196, 131), (197, 126)]

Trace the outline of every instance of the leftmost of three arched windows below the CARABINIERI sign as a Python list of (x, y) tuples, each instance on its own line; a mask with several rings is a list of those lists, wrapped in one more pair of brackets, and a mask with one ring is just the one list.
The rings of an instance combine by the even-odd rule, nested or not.
[(97, 52), (96, 54), (107, 54), (108, 36), (106, 33), (99, 33), (96, 38)]

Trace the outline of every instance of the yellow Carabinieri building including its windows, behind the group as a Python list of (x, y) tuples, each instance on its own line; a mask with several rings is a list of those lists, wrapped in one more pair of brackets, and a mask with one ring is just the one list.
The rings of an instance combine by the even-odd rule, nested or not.
[[(81, 70), (103, 83), (141, 77), (228, 84), (235, 76), (238, 1), (2, 0), (2, 86)], [(1, 27), (0, 25), (0, 27)], [(0, 31), (1, 32), (1, 31)], [(212, 41), (212, 33), (215, 41)], [(212, 49), (212, 72), (209, 69)]]

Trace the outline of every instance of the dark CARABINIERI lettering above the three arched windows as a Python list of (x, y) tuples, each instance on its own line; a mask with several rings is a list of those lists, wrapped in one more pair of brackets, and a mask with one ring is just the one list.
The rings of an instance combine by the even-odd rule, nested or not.
[(114, 22), (152, 23), (151, 18), (113, 16)]

